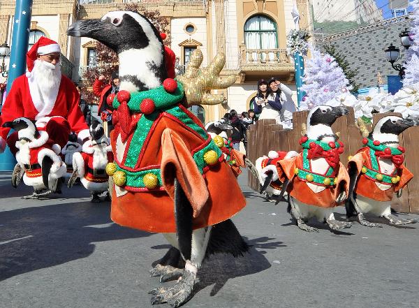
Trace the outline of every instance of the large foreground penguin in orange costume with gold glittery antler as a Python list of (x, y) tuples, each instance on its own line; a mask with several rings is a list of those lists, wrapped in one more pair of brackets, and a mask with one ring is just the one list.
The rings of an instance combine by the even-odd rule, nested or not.
[[(107, 167), (115, 182), (111, 218), (163, 233), (172, 244), (152, 276), (182, 279), (150, 293), (152, 304), (179, 307), (191, 297), (205, 256), (248, 250), (229, 219), (244, 207), (244, 196), (223, 153), (187, 109), (192, 103), (222, 103), (210, 90), (232, 85), (235, 76), (219, 77), (221, 55), (201, 70), (198, 50), (182, 78), (168, 78), (174, 62), (167, 61), (159, 32), (138, 13), (115, 11), (78, 21), (68, 34), (94, 38), (118, 54), (120, 87), (111, 133), (115, 163)], [(181, 263), (184, 269), (176, 268)]]

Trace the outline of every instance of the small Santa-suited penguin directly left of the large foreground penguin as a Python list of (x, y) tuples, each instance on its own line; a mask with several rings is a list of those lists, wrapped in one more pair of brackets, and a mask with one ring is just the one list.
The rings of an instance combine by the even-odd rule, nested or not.
[[(98, 121), (91, 124), (90, 136), (91, 140), (84, 142), (82, 152), (73, 154), (73, 174), (68, 179), (68, 187), (73, 186), (75, 179), (80, 177), (84, 188), (91, 191), (91, 202), (100, 203), (99, 195), (108, 191), (109, 176), (105, 168), (113, 161), (112, 148)], [(109, 200), (109, 194), (106, 198)]]

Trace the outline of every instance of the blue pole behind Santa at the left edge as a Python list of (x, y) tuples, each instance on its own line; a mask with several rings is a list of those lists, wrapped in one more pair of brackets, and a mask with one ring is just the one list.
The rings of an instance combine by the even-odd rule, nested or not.
[[(6, 95), (10, 91), (13, 81), (26, 71), (32, 2), (33, 0), (16, 0)], [(4, 153), (0, 154), (0, 171), (13, 170), (15, 163), (15, 157), (6, 148)]]

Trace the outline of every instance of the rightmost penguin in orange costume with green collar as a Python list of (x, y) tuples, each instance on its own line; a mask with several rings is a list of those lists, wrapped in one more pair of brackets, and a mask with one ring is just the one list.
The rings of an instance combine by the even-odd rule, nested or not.
[(399, 145), (399, 134), (418, 124), (417, 119), (383, 117), (362, 140), (364, 146), (348, 161), (347, 217), (358, 217), (362, 226), (378, 228), (381, 224), (367, 221), (364, 214), (383, 217), (392, 225), (418, 222), (393, 215), (390, 205), (394, 193), (398, 198), (402, 196), (402, 189), (413, 178), (403, 164), (404, 147)]

